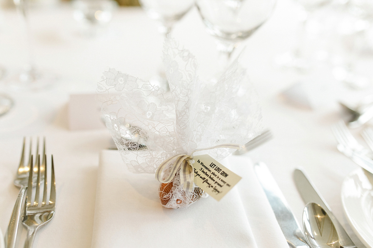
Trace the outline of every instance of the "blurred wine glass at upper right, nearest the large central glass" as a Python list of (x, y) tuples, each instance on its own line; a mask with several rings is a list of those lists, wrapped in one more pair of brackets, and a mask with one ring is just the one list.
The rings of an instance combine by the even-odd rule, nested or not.
[(288, 51), (276, 58), (276, 63), (281, 67), (292, 68), (306, 72), (310, 68), (309, 59), (305, 58), (304, 45), (307, 37), (307, 25), (310, 16), (330, 3), (331, 0), (296, 0), (300, 4), (298, 17), (300, 19), (300, 33), (295, 49)]

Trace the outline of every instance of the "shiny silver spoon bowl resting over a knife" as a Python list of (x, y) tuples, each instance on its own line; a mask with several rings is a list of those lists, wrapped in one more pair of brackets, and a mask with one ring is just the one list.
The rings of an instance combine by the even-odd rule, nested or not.
[(332, 220), (316, 203), (308, 203), (303, 211), (303, 229), (311, 248), (339, 248), (339, 237)]

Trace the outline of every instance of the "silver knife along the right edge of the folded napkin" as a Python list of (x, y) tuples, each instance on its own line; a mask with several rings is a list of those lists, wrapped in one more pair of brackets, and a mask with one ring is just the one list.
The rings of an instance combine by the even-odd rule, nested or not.
[(281, 193), (275, 179), (266, 164), (259, 162), (254, 165), (254, 171), (266, 193), (267, 199), (275, 213), (277, 222), (290, 248), (310, 248), (305, 241), (303, 232), (294, 218), (285, 197)]

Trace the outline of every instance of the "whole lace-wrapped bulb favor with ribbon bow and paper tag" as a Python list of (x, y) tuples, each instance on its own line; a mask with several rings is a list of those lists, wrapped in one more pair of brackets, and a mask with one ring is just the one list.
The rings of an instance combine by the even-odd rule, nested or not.
[(103, 73), (106, 126), (130, 171), (156, 174), (164, 207), (187, 207), (207, 193), (220, 200), (240, 177), (218, 161), (260, 131), (256, 94), (237, 61), (219, 80), (202, 81), (195, 57), (167, 39), (163, 62), (169, 92), (113, 68)]

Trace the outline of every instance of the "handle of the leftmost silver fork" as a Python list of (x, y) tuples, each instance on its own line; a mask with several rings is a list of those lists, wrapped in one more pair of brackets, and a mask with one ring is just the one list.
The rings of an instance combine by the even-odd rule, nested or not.
[(27, 187), (25, 186), (21, 187), (21, 190), (19, 190), (16, 203), (14, 204), (12, 216), (10, 216), (8, 229), (5, 234), (5, 247), (6, 248), (14, 248), (16, 246), (18, 225), (21, 219), (22, 205), (23, 205), (22, 203), (23, 203), (23, 198), (25, 197), (26, 189)]

